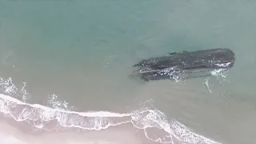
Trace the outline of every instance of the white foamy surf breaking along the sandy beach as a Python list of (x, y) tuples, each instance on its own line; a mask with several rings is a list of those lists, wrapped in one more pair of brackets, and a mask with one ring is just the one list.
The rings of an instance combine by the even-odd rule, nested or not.
[[(168, 121), (165, 114), (159, 110), (135, 110), (127, 114), (109, 111), (76, 112), (60, 109), (58, 106), (50, 108), (38, 104), (29, 104), (13, 98), (11, 94), (18, 94), (18, 89), (11, 79), (1, 78), (2, 93), (0, 94), (0, 111), (15, 121), (26, 121), (41, 130), (58, 130), (59, 128), (78, 128), (81, 130), (102, 130), (110, 126), (131, 123), (136, 128), (144, 130), (146, 138), (159, 143), (183, 144), (218, 144), (202, 135), (194, 134), (177, 121)], [(21, 91), (24, 94), (24, 88)], [(10, 94), (10, 95), (8, 95)], [(17, 96), (17, 95), (16, 95)], [(54, 97), (56, 102), (56, 97)], [(66, 106), (66, 105), (65, 105)], [(64, 106), (64, 107), (65, 107)], [(54, 123), (54, 126), (53, 124)], [(162, 130), (166, 135), (151, 137), (149, 128)]]

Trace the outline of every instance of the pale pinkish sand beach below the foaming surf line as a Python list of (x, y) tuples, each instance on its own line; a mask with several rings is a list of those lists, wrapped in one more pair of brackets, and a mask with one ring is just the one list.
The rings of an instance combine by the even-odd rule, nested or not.
[[(2, 117), (2, 116), (1, 116)], [(6, 122), (7, 120), (7, 122)], [(34, 131), (24, 122), (14, 122), (10, 118), (0, 120), (0, 138), (5, 144), (150, 144), (139, 132), (130, 125), (114, 126), (106, 130), (77, 130), (70, 128), (63, 131)], [(154, 142), (152, 142), (153, 144)]]

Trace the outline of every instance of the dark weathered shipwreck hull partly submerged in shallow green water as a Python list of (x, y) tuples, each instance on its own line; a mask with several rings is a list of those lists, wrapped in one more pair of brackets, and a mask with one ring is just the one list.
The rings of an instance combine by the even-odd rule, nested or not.
[(229, 70), (234, 66), (234, 53), (225, 48), (198, 50), (144, 59), (134, 67), (133, 75), (142, 79), (180, 79), (210, 75), (212, 70)]

